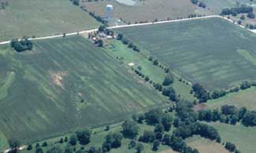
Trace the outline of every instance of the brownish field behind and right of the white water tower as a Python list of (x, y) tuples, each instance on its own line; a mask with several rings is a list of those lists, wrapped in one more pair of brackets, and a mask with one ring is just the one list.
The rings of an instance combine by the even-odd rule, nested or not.
[(116, 1), (85, 2), (85, 8), (99, 16), (104, 16), (107, 4), (113, 5), (113, 17), (124, 21), (139, 22), (155, 19), (166, 20), (168, 17), (187, 17), (195, 13), (195, 5), (190, 0), (147, 0), (136, 5), (124, 5)]

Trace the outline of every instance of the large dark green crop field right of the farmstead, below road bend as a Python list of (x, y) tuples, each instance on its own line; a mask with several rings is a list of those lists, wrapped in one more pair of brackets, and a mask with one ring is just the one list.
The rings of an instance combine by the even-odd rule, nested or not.
[(228, 89), (256, 78), (256, 35), (227, 20), (214, 17), (116, 31), (206, 89)]

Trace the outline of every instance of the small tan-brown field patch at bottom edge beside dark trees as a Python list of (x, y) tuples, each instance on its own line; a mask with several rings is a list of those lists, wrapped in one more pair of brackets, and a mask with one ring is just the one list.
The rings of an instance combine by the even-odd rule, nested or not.
[(186, 143), (191, 148), (197, 148), (198, 151), (202, 153), (228, 153), (228, 151), (221, 144), (217, 144), (216, 142), (198, 136), (187, 138)]

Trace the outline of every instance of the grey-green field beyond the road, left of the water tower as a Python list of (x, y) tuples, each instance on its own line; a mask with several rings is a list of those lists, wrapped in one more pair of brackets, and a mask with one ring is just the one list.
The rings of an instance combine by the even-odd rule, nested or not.
[(0, 41), (97, 28), (98, 22), (69, 0), (9, 0), (0, 11)]

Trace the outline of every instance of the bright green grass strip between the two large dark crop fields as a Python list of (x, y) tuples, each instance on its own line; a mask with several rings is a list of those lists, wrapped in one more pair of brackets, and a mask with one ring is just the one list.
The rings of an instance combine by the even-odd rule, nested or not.
[[(134, 68), (140, 66), (142, 67), (141, 72), (144, 75), (150, 77), (151, 80), (157, 83), (162, 83), (165, 76), (167, 75), (161, 67), (158, 67), (152, 64), (151, 61), (147, 60), (147, 50), (141, 49), (140, 53), (129, 49), (128, 46), (125, 46), (118, 40), (111, 40), (108, 42), (109, 46), (107, 50), (113, 58), (117, 58), (121, 63), (128, 65), (129, 63), (135, 64)], [(174, 77), (173, 88), (176, 90), (176, 93), (186, 99), (186, 100), (195, 100), (195, 97), (190, 94), (191, 86), (186, 85), (183, 82), (179, 82), (176, 77)]]

